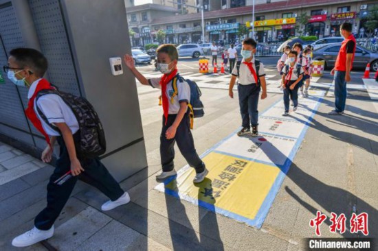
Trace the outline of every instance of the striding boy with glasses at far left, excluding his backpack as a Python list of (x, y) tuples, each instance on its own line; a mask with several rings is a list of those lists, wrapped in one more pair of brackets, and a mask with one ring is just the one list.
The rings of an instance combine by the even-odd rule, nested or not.
[(14, 238), (12, 245), (25, 247), (52, 237), (54, 222), (78, 179), (96, 187), (110, 198), (102, 204), (102, 211), (128, 203), (129, 194), (121, 189), (100, 160), (80, 151), (82, 128), (73, 110), (58, 94), (39, 95), (42, 91), (55, 90), (43, 78), (47, 71), (45, 56), (35, 49), (12, 49), (8, 67), (4, 69), (7, 69), (8, 78), (14, 84), (29, 88), (29, 104), (25, 114), (47, 141), (47, 147), (42, 153), (43, 162), (52, 160), (54, 143), (58, 142), (60, 147), (54, 173), (47, 184), (47, 206), (34, 219), (34, 228)]

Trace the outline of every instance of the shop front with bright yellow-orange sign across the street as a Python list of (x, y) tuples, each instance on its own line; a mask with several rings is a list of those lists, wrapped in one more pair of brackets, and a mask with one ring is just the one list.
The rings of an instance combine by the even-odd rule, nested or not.
[[(295, 36), (296, 18), (289, 19), (268, 19), (264, 21), (255, 21), (255, 38), (260, 43), (266, 43), (269, 40), (286, 40), (290, 36)], [(276, 37), (274, 37), (274, 29), (276, 29)]]

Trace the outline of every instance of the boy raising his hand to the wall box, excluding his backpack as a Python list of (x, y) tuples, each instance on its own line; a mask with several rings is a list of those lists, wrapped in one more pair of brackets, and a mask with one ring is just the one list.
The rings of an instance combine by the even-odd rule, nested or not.
[[(185, 81), (180, 81), (177, 72), (177, 60), (179, 54), (174, 45), (160, 45), (156, 50), (157, 69), (163, 73), (162, 77), (146, 79), (134, 65), (133, 58), (126, 54), (124, 62), (137, 80), (144, 85), (151, 85), (153, 88), (162, 89), (163, 99), (163, 128), (160, 134), (160, 158), (162, 173), (156, 178), (162, 180), (175, 176), (174, 146), (177, 146), (190, 167), (196, 170), (193, 182), (202, 182), (208, 174), (205, 164), (199, 158), (195, 147), (192, 133), (190, 132), (190, 117), (188, 104), (190, 101), (190, 86)], [(174, 95), (173, 80), (177, 77), (177, 95)]]

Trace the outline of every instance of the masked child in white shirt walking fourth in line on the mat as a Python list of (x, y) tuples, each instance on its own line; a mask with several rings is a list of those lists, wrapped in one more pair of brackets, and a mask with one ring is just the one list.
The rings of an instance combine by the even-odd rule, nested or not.
[(298, 83), (302, 80), (303, 68), (297, 62), (298, 53), (297, 51), (290, 51), (287, 64), (282, 68), (282, 86), (284, 89), (284, 104), (285, 112), (282, 116), (289, 116), (289, 103), (290, 99), (293, 101), (294, 107), (293, 112), (298, 108)]

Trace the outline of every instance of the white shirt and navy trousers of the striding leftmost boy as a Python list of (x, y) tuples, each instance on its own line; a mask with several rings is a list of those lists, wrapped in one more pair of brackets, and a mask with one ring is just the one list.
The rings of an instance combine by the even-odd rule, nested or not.
[[(32, 97), (40, 80), (36, 80), (30, 86), (28, 93), (29, 99)], [(49, 230), (63, 210), (78, 179), (96, 187), (112, 201), (118, 200), (118, 198), (124, 194), (124, 191), (98, 158), (86, 158), (86, 156), (81, 155), (80, 152), (77, 151), (77, 158), (85, 171), (82, 171), (78, 176), (72, 176), (63, 184), (59, 185), (54, 183), (71, 170), (71, 162), (63, 137), (41, 119), (38, 115), (37, 107), (43, 112), (43, 115), (45, 115), (49, 123), (66, 123), (74, 136), (76, 146), (80, 142), (80, 132), (74, 112), (65, 104), (65, 101), (63, 101), (61, 97), (55, 94), (48, 94), (34, 101), (34, 111), (41, 121), (43, 129), (49, 136), (56, 136), (56, 141), (60, 147), (54, 173), (49, 178), (49, 183), (47, 184), (47, 206), (41, 213), (38, 213), (34, 219), (34, 226), (36, 226), (36, 228), (39, 230)]]

